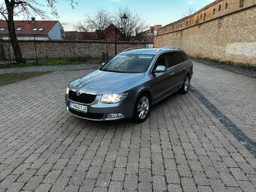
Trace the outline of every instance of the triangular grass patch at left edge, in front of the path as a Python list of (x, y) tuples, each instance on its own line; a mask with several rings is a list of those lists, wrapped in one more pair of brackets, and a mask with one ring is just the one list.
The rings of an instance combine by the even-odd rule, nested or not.
[(18, 81), (23, 81), (29, 78), (38, 77), (49, 72), (26, 72), (26, 73), (5, 73), (0, 74), (0, 86), (14, 84)]

